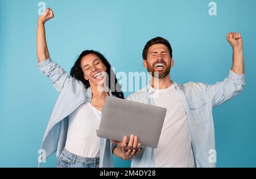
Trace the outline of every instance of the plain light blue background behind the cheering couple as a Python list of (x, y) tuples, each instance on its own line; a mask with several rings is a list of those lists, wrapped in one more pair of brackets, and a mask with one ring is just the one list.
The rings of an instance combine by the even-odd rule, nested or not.
[[(0, 1), (0, 167), (37, 167), (38, 150), (58, 93), (36, 66), (35, 0)], [(47, 22), (53, 61), (69, 71), (85, 49), (105, 54), (115, 72), (145, 71), (142, 49), (155, 36), (171, 42), (175, 66), (171, 78), (215, 83), (228, 75), (230, 31), (242, 33), (246, 87), (215, 108), (217, 167), (256, 167), (255, 32), (256, 1), (97, 0), (44, 1), (55, 18)], [(125, 93), (129, 95), (129, 93)], [(115, 167), (129, 161), (114, 158)], [(43, 167), (56, 167), (52, 155)]]

